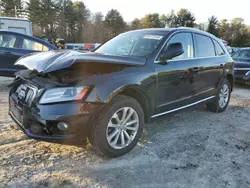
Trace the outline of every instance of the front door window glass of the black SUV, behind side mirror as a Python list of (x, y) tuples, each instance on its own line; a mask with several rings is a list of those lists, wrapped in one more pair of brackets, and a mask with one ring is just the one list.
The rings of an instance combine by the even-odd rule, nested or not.
[(160, 53), (160, 56), (157, 60), (160, 60), (161, 54), (167, 48), (167, 46), (171, 43), (180, 42), (183, 45), (184, 53), (180, 56), (177, 56), (173, 59), (188, 59), (194, 57), (194, 45), (193, 45), (193, 38), (191, 33), (177, 33), (175, 34), (164, 47), (163, 51)]

